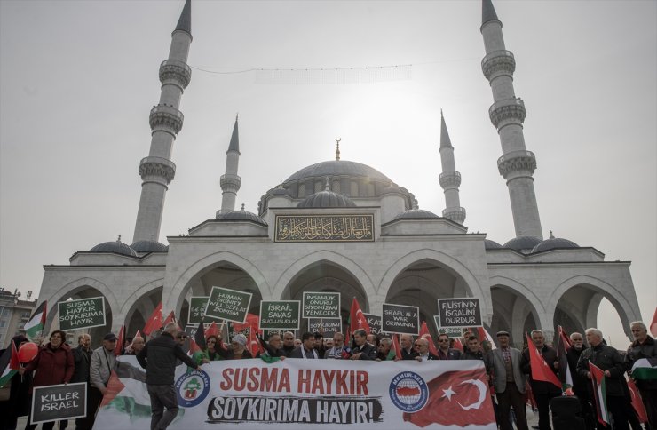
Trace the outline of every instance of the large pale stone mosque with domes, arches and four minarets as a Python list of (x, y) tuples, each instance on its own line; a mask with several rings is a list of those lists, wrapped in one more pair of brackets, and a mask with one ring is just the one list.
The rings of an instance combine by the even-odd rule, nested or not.
[(606, 261), (601, 251), (551, 233), (543, 237), (534, 193), (536, 157), (526, 148), (525, 105), (513, 88), (516, 60), (505, 47), (491, 0), (482, 2), (480, 30), (481, 68), (493, 92), (488, 113), (502, 145), (497, 166), (509, 189), (516, 237), (501, 244), (468, 232), (444, 118), (439, 185), (446, 208), (440, 215), (418, 209), (416, 197), (384, 173), (341, 159), (339, 142), (335, 159), (309, 165), (267, 189), (257, 214), (236, 209), (241, 178), (235, 120), (220, 178), (221, 209), (187, 235), (167, 236), (165, 245), (159, 242), (164, 197), (176, 173), (170, 155), (184, 119), (180, 99), (191, 80), (186, 64), (191, 0), (186, 0), (169, 58), (159, 70), (162, 92), (150, 111), (150, 152), (139, 163), (143, 182), (133, 241), (99, 243), (75, 252), (69, 265), (44, 266), (39, 300), (48, 301), (46, 328), (57, 326), (59, 301), (99, 296), (106, 300), (107, 324), (91, 329), (93, 338), (122, 324), (128, 333), (140, 330), (160, 302), (164, 315), (173, 310), (185, 324), (190, 298), (209, 296), (218, 286), (252, 293), (255, 314), (263, 299), (339, 291), (344, 321), (353, 297), (374, 315), (381, 315), (384, 303), (419, 306), (427, 322), (437, 314), (437, 299), (479, 298), (487, 329), (509, 330), (516, 343), (536, 327), (551, 338), (558, 324), (569, 332), (596, 326), (606, 298), (629, 330), (630, 321), (641, 319), (630, 263)]

